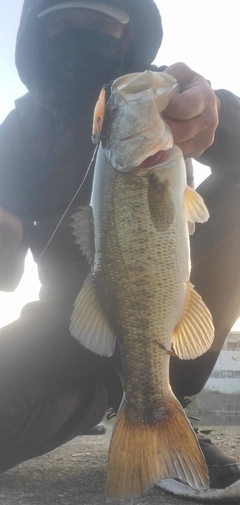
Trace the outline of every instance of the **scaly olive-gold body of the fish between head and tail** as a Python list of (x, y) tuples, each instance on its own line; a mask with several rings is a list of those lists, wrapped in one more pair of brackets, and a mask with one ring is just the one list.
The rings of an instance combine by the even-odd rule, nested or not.
[[(141, 190), (139, 190), (139, 187)], [(130, 229), (129, 227), (123, 227), (122, 229), (116, 221), (118, 243), (123, 255), (121, 271), (127, 270), (130, 277), (128, 290), (131, 288), (131, 292), (125, 292), (126, 311), (123, 310), (125, 318), (124, 320), (121, 319), (121, 325), (124, 328), (122, 332), (125, 337), (123, 337), (123, 342), (120, 340), (119, 343), (121, 352), (123, 353), (124, 349), (127, 348), (128, 354), (128, 356), (124, 356), (122, 360), (125, 364), (124, 375), (127, 377), (126, 397), (131, 398), (131, 403), (134, 401), (136, 382), (138, 383), (137, 390), (147, 390), (143, 405), (141, 405), (139, 399), (136, 402), (138, 411), (142, 412), (143, 417), (144, 410), (147, 411), (149, 409), (149, 404), (151, 403), (152, 405), (153, 403), (153, 395), (157, 397), (157, 407), (157, 405), (160, 404), (159, 398), (162, 395), (162, 390), (165, 389), (166, 384), (169, 384), (167, 373), (168, 363), (164, 352), (157, 347), (155, 339), (160, 339), (161, 335), (163, 335), (164, 340), (162, 343), (166, 348), (170, 347), (173, 329), (178, 322), (178, 314), (175, 316), (175, 321), (171, 316), (169, 317), (168, 312), (172, 309), (171, 304), (169, 304), (169, 299), (173, 299), (174, 293), (175, 299), (179, 300), (179, 297), (181, 297), (184, 304), (184, 286), (182, 284), (179, 285), (180, 289), (176, 291), (176, 275), (173, 274), (173, 268), (175, 272), (179, 272), (179, 270), (184, 268), (187, 279), (188, 258), (187, 241), (184, 241), (184, 245), (186, 245), (184, 255), (186, 258), (185, 265), (180, 265), (179, 268), (179, 261), (177, 263), (177, 260), (179, 259), (182, 261), (182, 257), (184, 256), (179, 255), (176, 251), (172, 252), (169, 256), (169, 251), (172, 247), (169, 247), (166, 238), (169, 237), (170, 231), (159, 233), (154, 228), (149, 214), (147, 193), (148, 180), (138, 178), (137, 176), (131, 176), (131, 181), (126, 176), (117, 177), (114, 191), (114, 195), (116, 195), (114, 198), (114, 213), (116, 219), (119, 215), (121, 215), (122, 219), (125, 213), (131, 214)], [(123, 195), (125, 205), (122, 203)], [(139, 202), (145, 202), (145, 208), (140, 205), (140, 213)], [(179, 214), (177, 215), (175, 213), (175, 215), (177, 219)], [(176, 226), (177, 224), (175, 227)], [(171, 225), (171, 229), (174, 234), (174, 224)], [(144, 247), (139, 247), (139, 238), (143, 241)], [(166, 263), (166, 256), (168, 258), (168, 264)], [(169, 276), (169, 272), (172, 274), (171, 277)], [(120, 281), (121, 278), (122, 275), (120, 276)], [(168, 283), (166, 283), (166, 280), (168, 280)], [(116, 290), (121, 293), (122, 286), (116, 286)], [(134, 305), (135, 312), (133, 314), (133, 319), (129, 319), (127, 307), (128, 300), (132, 298), (132, 294), (134, 294), (136, 298), (136, 303)], [(163, 300), (164, 303), (162, 303)], [(121, 300), (121, 304), (122, 303), (124, 302)], [(139, 325), (135, 323), (138, 312), (141, 313), (140, 328)], [(129, 324), (130, 322), (133, 324)], [(143, 366), (139, 367), (140, 373), (136, 378), (133, 364), (134, 362), (141, 362), (141, 359), (143, 360)], [(151, 369), (152, 374), (149, 374)], [(147, 377), (143, 377), (144, 372)], [(132, 375), (134, 375), (134, 377), (132, 377)], [(143, 385), (141, 385), (142, 382)], [(133, 384), (130, 390), (129, 384)]]

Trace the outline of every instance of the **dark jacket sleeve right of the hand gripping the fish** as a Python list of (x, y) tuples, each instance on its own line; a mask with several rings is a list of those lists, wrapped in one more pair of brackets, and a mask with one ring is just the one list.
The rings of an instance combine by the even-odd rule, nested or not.
[(240, 172), (240, 99), (227, 90), (215, 91), (221, 101), (214, 143), (197, 161), (214, 173)]

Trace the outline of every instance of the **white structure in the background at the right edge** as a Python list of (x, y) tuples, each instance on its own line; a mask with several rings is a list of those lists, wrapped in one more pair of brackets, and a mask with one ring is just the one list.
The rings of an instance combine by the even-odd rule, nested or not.
[(240, 393), (240, 332), (228, 335), (205, 389)]

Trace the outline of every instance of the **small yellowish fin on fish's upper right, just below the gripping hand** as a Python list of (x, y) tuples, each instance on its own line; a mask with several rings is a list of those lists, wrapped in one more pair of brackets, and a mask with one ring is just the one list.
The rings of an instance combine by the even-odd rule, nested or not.
[[(205, 223), (209, 219), (209, 212), (203, 198), (190, 186), (185, 189), (185, 213), (189, 223)], [(195, 227), (190, 224), (189, 232), (192, 234)]]

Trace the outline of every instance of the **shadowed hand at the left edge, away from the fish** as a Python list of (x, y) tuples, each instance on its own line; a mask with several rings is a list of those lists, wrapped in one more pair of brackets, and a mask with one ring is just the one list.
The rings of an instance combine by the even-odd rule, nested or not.
[(15, 215), (0, 207), (0, 267), (7, 262), (22, 241), (22, 223)]

